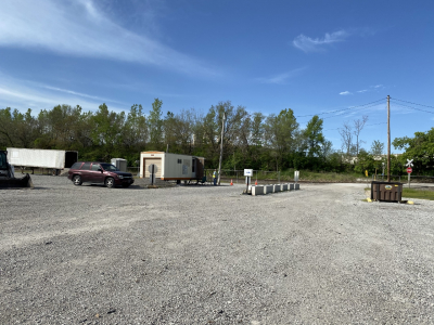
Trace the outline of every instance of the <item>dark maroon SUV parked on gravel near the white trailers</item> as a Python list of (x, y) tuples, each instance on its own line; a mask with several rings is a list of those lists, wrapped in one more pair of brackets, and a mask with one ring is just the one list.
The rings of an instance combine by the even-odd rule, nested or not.
[(135, 182), (131, 173), (120, 171), (107, 162), (75, 162), (68, 171), (68, 179), (74, 185), (87, 182), (102, 183), (107, 187), (116, 185), (128, 187)]

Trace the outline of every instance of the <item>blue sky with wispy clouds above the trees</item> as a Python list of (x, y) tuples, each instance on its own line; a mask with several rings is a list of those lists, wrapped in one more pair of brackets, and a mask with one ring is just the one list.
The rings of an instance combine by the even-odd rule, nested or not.
[(431, 0), (2, 0), (0, 108), (148, 112), (158, 98), (164, 113), (231, 101), (304, 116), (380, 101), (320, 115), (335, 148), (368, 115), (369, 148), (386, 142), (387, 95), (392, 139), (434, 126), (433, 17)]

